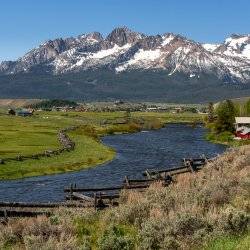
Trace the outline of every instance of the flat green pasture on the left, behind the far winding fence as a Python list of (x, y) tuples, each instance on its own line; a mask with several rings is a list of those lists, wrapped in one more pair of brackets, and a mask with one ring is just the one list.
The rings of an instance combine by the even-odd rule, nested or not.
[(67, 123), (46, 116), (0, 116), (0, 158), (31, 155), (59, 147), (57, 131)]

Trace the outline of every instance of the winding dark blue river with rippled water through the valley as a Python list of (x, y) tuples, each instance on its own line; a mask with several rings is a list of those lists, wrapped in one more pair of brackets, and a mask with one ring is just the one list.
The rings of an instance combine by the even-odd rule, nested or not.
[(225, 146), (206, 141), (204, 134), (203, 127), (169, 124), (160, 130), (106, 136), (103, 143), (117, 152), (113, 161), (78, 172), (0, 181), (0, 201), (62, 201), (63, 188), (70, 183), (82, 187), (120, 185), (125, 175), (142, 178), (146, 169), (174, 167), (184, 157), (213, 157), (225, 151)]

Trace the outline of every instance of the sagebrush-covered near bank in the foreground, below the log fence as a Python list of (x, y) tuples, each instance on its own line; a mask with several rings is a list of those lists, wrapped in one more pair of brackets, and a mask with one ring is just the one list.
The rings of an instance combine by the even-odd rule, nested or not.
[(249, 159), (249, 146), (230, 149), (173, 185), (125, 192), (116, 208), (60, 209), (50, 218), (11, 219), (0, 225), (0, 246), (248, 249)]

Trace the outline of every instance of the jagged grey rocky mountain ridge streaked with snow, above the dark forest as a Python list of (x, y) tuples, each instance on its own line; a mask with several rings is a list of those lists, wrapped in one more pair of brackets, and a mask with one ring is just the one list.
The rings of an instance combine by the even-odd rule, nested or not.
[(250, 83), (250, 34), (222, 44), (201, 44), (173, 33), (148, 36), (126, 27), (106, 38), (99, 32), (49, 40), (17, 61), (0, 64), (0, 75), (42, 72), (61, 75), (108, 69), (115, 74), (161, 70), (198, 80), (211, 75), (230, 84)]

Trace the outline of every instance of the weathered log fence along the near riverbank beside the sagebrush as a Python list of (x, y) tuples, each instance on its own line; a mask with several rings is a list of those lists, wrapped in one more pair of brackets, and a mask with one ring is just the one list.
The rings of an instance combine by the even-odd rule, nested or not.
[[(119, 198), (123, 190), (138, 190), (143, 192), (152, 183), (159, 183), (163, 187), (175, 182), (175, 176), (183, 173), (196, 173), (209, 159), (203, 158), (184, 158), (182, 166), (161, 170), (146, 170), (143, 173), (144, 179), (129, 179), (125, 176), (120, 186), (111, 187), (79, 187), (71, 184), (64, 188), (64, 202), (58, 203), (24, 203), (24, 202), (0, 202), (0, 217), (34, 217), (39, 215), (49, 216), (54, 208), (86, 208), (103, 209), (106, 207), (119, 205)], [(146, 178), (145, 178), (146, 177)], [(15, 210), (13, 208), (18, 208)], [(36, 211), (46, 209), (46, 211)], [(51, 210), (52, 209), (52, 210)], [(49, 210), (49, 211), (48, 211)]]

